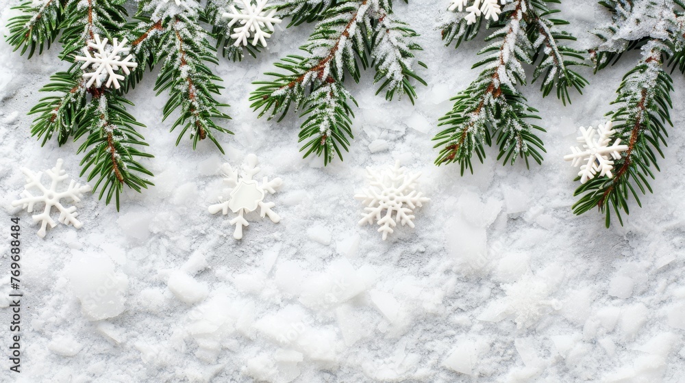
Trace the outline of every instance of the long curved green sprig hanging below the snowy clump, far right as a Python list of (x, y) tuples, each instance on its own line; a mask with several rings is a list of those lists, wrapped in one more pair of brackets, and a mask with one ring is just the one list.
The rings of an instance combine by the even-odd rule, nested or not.
[(645, 46), (643, 60), (623, 77), (612, 102), (619, 107), (607, 116), (613, 121), (616, 137), (628, 146), (621, 159), (614, 161), (613, 178), (592, 179), (574, 194), (582, 197), (573, 205), (573, 212), (582, 214), (597, 207), (605, 215), (607, 227), (612, 211), (623, 225), (621, 211), (629, 213), (631, 196), (642, 206), (637, 190), (641, 194), (652, 192), (648, 180), (655, 177), (652, 168), (659, 170), (656, 153), (664, 157), (660, 146), (667, 145), (666, 124), (673, 127), (669, 115), (673, 79), (663, 69), (663, 49), (656, 41)]

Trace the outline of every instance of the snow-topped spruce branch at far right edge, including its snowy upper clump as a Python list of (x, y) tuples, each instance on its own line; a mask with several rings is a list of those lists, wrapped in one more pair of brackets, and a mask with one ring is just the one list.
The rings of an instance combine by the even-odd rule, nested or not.
[[(582, 196), (573, 206), (576, 214), (595, 207), (606, 215), (610, 226), (611, 211), (623, 224), (621, 211), (629, 213), (628, 199), (633, 196), (641, 206), (640, 193), (651, 192), (651, 170), (659, 170), (656, 153), (664, 156), (660, 146), (666, 145), (666, 124), (673, 126), (670, 109), (673, 79), (671, 72), (679, 68), (685, 74), (682, 61), (685, 52), (685, 3), (664, 1), (603, 1), (612, 12), (612, 23), (596, 34), (601, 42), (590, 51), (595, 70), (606, 68), (630, 49), (640, 49), (641, 57), (629, 70), (617, 90), (607, 116), (614, 131), (627, 149), (613, 164), (611, 176), (602, 176), (582, 183), (575, 191)], [(670, 57), (670, 60), (669, 60)], [(656, 152), (656, 153), (655, 153)]]

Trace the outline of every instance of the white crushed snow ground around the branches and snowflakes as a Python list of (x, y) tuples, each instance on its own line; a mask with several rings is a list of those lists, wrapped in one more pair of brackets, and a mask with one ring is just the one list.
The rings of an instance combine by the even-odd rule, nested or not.
[[(324, 168), (298, 153), (299, 120), (277, 124), (249, 108), (252, 81), (295, 53), (311, 26), (277, 31), (257, 60), (220, 60), (216, 72), (232, 105), (236, 135), (192, 151), (175, 147), (161, 122), (166, 94), (147, 75), (129, 111), (154, 159), (156, 184), (127, 193), (121, 211), (95, 196), (79, 204), (84, 228), (60, 225), (45, 239), (10, 202), (23, 189), (20, 166), (44, 170), (64, 159), (79, 173), (77, 145), (45, 147), (29, 135), (26, 113), (51, 73), (67, 68), (57, 50), (25, 60), (0, 43), (0, 203), (3, 233), (21, 217), (23, 359), (21, 375), (0, 358), (0, 381), (16, 382), (679, 382), (685, 376), (684, 79), (675, 75), (674, 111), (654, 194), (634, 202), (625, 226), (571, 213), (577, 170), (563, 161), (577, 128), (596, 126), (620, 79), (637, 60), (593, 76), (584, 96), (563, 107), (525, 88), (540, 109), (543, 166), (502, 166), (487, 150), (475, 175), (433, 165), (430, 138), (449, 97), (475, 78), (482, 36), (444, 47), (435, 29), (447, 1), (395, 1), (422, 35), (429, 65), (419, 100), (387, 103), (366, 72), (349, 88), (355, 140), (345, 161)], [(12, 15), (0, 2), (0, 22)], [(606, 19), (593, 0), (565, 1), (564, 18), (580, 44)], [(3, 29), (6, 33), (6, 29)], [(256, 153), (260, 176), (284, 185), (269, 200), (282, 222), (249, 216), (242, 241), (207, 207), (222, 193), (221, 163)], [(399, 159), (423, 172), (432, 200), (416, 229), (382, 241), (358, 227), (366, 166)], [(85, 180), (82, 180), (85, 181)], [(8, 253), (4, 241), (2, 253)], [(0, 345), (9, 342), (8, 259), (0, 278)], [(110, 305), (103, 305), (110, 302)], [(102, 311), (99, 311), (102, 310)], [(121, 314), (97, 320), (108, 313)]]

